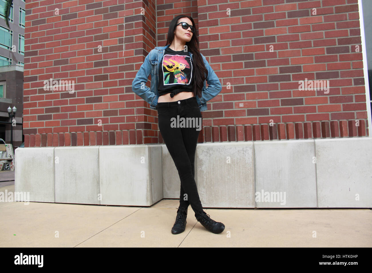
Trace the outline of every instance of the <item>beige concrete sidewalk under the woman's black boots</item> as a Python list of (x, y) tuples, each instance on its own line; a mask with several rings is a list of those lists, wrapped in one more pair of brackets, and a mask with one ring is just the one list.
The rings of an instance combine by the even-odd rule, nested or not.
[[(14, 181), (0, 182), (5, 190), (14, 192)], [(151, 207), (0, 202), (0, 246), (372, 247), (371, 209), (204, 209), (225, 224), (213, 234), (189, 207), (186, 230), (173, 235), (178, 205), (176, 199)]]

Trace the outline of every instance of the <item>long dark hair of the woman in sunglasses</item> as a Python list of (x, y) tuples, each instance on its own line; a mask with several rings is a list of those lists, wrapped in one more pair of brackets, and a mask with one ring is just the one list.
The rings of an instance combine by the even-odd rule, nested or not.
[[(192, 53), (193, 63), (195, 64), (194, 65), (195, 80), (193, 82), (193, 93), (194, 93), (195, 96), (198, 95), (198, 97), (201, 98), (204, 81), (205, 81), (206, 77), (208, 77), (208, 70), (205, 68), (202, 55), (200, 55), (199, 38), (198, 38), (198, 35), (196, 33), (197, 29), (196, 29), (196, 26), (195, 26), (195, 23), (194, 23), (194, 20), (192, 19), (192, 17), (181, 14), (181, 15), (178, 15), (178, 16), (174, 17), (173, 20), (171, 20), (170, 25), (169, 25), (169, 29), (168, 29), (168, 37), (167, 37), (166, 45), (171, 44), (173, 42), (173, 39), (174, 39), (174, 33), (173, 32), (176, 29), (177, 20), (180, 19), (180, 18), (183, 18), (183, 17), (189, 18), (190, 21), (192, 22), (193, 28), (195, 29), (195, 32), (192, 34), (192, 38), (191, 38), (190, 42), (186, 42), (186, 45), (187, 45), (187, 51), (190, 51)], [(204, 74), (206, 74), (206, 76)]]

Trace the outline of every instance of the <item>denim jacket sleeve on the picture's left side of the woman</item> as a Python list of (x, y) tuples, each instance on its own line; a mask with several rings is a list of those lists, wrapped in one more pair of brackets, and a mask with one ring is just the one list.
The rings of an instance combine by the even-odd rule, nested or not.
[(146, 56), (144, 63), (141, 65), (140, 70), (138, 70), (136, 77), (132, 82), (132, 91), (149, 104), (151, 104), (156, 96), (154, 92), (151, 92), (151, 89), (146, 85), (148, 76), (151, 72), (150, 53), (148, 53)]

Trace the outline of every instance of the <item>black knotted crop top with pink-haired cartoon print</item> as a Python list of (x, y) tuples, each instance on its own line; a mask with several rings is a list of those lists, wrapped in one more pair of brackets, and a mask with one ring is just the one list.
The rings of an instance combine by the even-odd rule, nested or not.
[(168, 46), (159, 65), (159, 97), (170, 93), (173, 98), (179, 92), (193, 92), (194, 73), (189, 52), (174, 51)]

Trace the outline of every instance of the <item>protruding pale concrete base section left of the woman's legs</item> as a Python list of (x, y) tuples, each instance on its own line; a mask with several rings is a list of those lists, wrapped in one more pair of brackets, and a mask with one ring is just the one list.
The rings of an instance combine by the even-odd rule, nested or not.
[(150, 206), (163, 198), (159, 145), (16, 149), (15, 191), (30, 201)]

